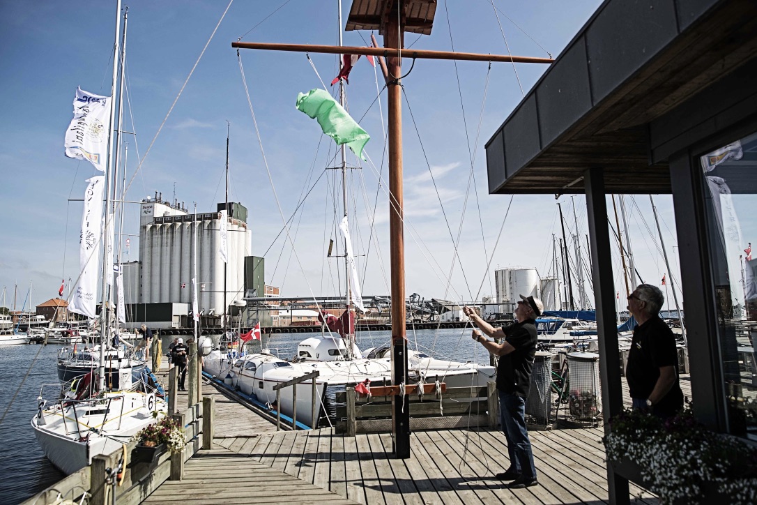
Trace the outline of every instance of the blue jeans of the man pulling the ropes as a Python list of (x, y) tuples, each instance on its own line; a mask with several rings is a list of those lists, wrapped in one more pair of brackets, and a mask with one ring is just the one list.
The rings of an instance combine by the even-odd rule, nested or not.
[(510, 469), (525, 479), (536, 479), (534, 454), (525, 426), (525, 398), (504, 391), (497, 392), (500, 394), (500, 422), (507, 440)]

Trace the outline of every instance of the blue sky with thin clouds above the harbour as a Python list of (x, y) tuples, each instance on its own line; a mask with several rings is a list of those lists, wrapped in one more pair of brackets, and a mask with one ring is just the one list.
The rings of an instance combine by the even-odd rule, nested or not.
[[(407, 34), (405, 45), (557, 57), (600, 3), (440, 0), (431, 36)], [(335, 45), (338, 2), (237, 0), (228, 11), (226, 0), (123, 5), (129, 7), (123, 130), (129, 132), (124, 139), (131, 181), (124, 199), (140, 201), (159, 192), (190, 209), (197, 204), (198, 212), (214, 211), (225, 199), (228, 131), (229, 201), (248, 208), (250, 254), (266, 257), (266, 283), (279, 286), (282, 296), (343, 291), (338, 275), (344, 267), (326, 257), (329, 239), (342, 254), (341, 179), (337, 170), (328, 170), (340, 159), (332, 139), (294, 107), (299, 92), (335, 91), (329, 83), (338, 73), (338, 57), (242, 50), (238, 58), (231, 47), (240, 38)], [(345, 20), (349, 8), (344, 2)], [(111, 94), (115, 19), (116, 2), (83, 1), (76, 8), (52, 0), (0, 2), (0, 201), (5, 209), (0, 288), (8, 288), (0, 305), (12, 306), (14, 285), (20, 309), (30, 282), (36, 305), (58, 295), (61, 279), (68, 285), (78, 275), (83, 207), (70, 200), (82, 198), (95, 170), (64, 157), (64, 132), (77, 86)], [(344, 45), (369, 45), (370, 35), (346, 32)], [(375, 36), (382, 45), (382, 36)], [(569, 235), (577, 223), (588, 261), (583, 195), (559, 200), (516, 195), (512, 201), (509, 195), (488, 195), (484, 144), (545, 70), (537, 64), (499, 63), (489, 69), (481, 62), (419, 60), (403, 78), (407, 295), (480, 300), (494, 294), (497, 268), (534, 267), (541, 276), (553, 274), (553, 235), (561, 234), (557, 203)], [(366, 295), (390, 291), (383, 87), (380, 70), (366, 58), (357, 61), (346, 86), (347, 109), (371, 136), (369, 161), (347, 155), (347, 164), (358, 167), (348, 170), (347, 200)], [(662, 275), (671, 273), (650, 200), (627, 197), (626, 205), (637, 270), (646, 282), (659, 285)], [(656, 205), (678, 282), (670, 196), (656, 196)], [(130, 235), (130, 247), (126, 254), (122, 246), (123, 259), (137, 260), (139, 205), (124, 208), (123, 239)], [(284, 233), (282, 216), (292, 217)], [(613, 256), (615, 282), (623, 293), (617, 248)]]

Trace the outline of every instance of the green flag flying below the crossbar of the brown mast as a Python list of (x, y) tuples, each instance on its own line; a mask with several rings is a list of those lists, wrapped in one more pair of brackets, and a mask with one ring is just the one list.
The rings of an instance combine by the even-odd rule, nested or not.
[(323, 132), (339, 145), (347, 144), (363, 160), (363, 147), (371, 136), (350, 117), (338, 101), (325, 89), (311, 89), (297, 95), (297, 109), (318, 120)]

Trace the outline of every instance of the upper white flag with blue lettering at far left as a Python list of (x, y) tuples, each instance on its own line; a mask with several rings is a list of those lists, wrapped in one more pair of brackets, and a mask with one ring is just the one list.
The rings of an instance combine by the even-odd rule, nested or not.
[(111, 126), (111, 97), (92, 95), (76, 88), (73, 120), (66, 130), (66, 156), (89, 160), (105, 171), (107, 134)]

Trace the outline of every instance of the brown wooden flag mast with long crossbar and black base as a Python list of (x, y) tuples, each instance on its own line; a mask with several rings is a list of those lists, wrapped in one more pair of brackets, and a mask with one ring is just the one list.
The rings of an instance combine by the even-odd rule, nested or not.
[[(389, 230), (391, 248), (391, 336), (392, 336), (392, 382), (395, 387), (407, 385), (407, 335), (405, 317), (405, 251), (403, 235), (403, 177), (402, 177), (402, 58), (425, 58), (467, 61), (497, 61), (512, 63), (550, 64), (551, 58), (531, 58), (510, 55), (481, 55), (476, 53), (459, 53), (452, 51), (402, 51), (404, 33), (413, 23), (405, 16), (406, 7), (412, 0), (382, 0), (371, 16), (357, 15), (352, 11), (360, 4), (356, 0), (347, 30), (366, 30), (378, 28), (384, 35), (384, 48), (347, 47), (334, 45), (308, 44), (271, 44), (261, 42), (232, 42), (232, 48), (266, 49), (269, 51), (294, 51), (326, 53), (333, 55), (372, 55), (383, 56), (387, 64), (387, 101), (388, 101), (388, 150), (389, 150)], [(421, 2), (423, 3), (423, 2)], [(422, 20), (422, 31), (431, 33), (431, 24), (435, 11), (434, 2), (428, 2), (430, 8)], [(366, 5), (360, 4), (360, 8)], [(372, 6), (375, 7), (375, 6)], [(372, 9), (371, 7), (371, 9)], [(358, 19), (359, 18), (359, 19)], [(350, 26), (351, 25), (351, 26)], [(375, 26), (369, 26), (375, 25)], [(417, 30), (415, 30), (417, 31)], [(393, 395), (392, 401), (392, 444), (396, 457), (410, 457), (410, 401), (405, 394)]]

